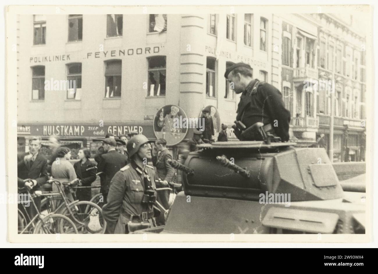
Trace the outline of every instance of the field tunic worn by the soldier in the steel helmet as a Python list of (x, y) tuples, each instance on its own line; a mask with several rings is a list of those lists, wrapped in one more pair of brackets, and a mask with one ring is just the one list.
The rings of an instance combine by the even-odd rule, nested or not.
[[(142, 216), (147, 214), (150, 224), (154, 224), (152, 217), (153, 206), (142, 204), (144, 195), (144, 177), (150, 180), (156, 196), (155, 170), (146, 165), (144, 170), (134, 161), (122, 167), (113, 177), (107, 197), (107, 204), (102, 208), (102, 214), (107, 221), (110, 233), (126, 233), (126, 225), (130, 221), (130, 215)], [(132, 222), (141, 222), (133, 218)]]

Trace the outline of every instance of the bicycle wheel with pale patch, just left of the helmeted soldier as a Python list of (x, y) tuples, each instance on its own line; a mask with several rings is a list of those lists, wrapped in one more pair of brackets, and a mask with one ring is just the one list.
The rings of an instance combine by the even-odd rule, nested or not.
[(70, 204), (70, 214), (67, 207), (62, 214), (74, 221), (77, 229), (83, 233), (104, 234), (106, 222), (102, 217), (102, 210), (97, 204), (88, 201), (79, 201)]

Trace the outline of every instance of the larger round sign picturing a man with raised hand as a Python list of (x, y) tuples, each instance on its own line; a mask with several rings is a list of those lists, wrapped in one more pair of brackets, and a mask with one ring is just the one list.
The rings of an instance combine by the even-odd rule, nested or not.
[(166, 105), (159, 109), (153, 121), (153, 131), (156, 138), (163, 138), (167, 146), (174, 146), (181, 142), (187, 133), (188, 127), (183, 127), (187, 116), (177, 105)]

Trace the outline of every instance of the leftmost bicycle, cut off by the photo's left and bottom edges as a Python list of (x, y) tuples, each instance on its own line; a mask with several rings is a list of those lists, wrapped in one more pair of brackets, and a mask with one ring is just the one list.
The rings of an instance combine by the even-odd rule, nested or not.
[[(23, 189), (24, 190), (24, 189)], [(22, 207), (25, 214), (18, 209), (18, 232), (19, 234), (33, 233), (33, 234), (78, 234), (77, 228), (70, 218), (62, 214), (48, 214), (43, 216), (38, 207), (34, 203), (34, 199), (40, 196), (40, 192), (30, 194), (30, 191), (26, 189), (28, 197), (30, 197), (29, 203), (33, 204), (36, 209), (37, 215), (33, 218), (30, 217), (25, 207)]]

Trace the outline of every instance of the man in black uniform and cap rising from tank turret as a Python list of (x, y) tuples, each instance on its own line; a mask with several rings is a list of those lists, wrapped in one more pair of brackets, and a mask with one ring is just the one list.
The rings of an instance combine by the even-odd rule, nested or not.
[(246, 63), (235, 63), (228, 67), (225, 78), (234, 84), (235, 93), (242, 93), (236, 116), (236, 121), (242, 124), (232, 126), (237, 138), (261, 141), (261, 136), (245, 135), (243, 132), (248, 131), (243, 129), (262, 122), (265, 132), (280, 137), (282, 142), (288, 141), (290, 112), (283, 104), (280, 91), (273, 85), (253, 79), (252, 68)]

